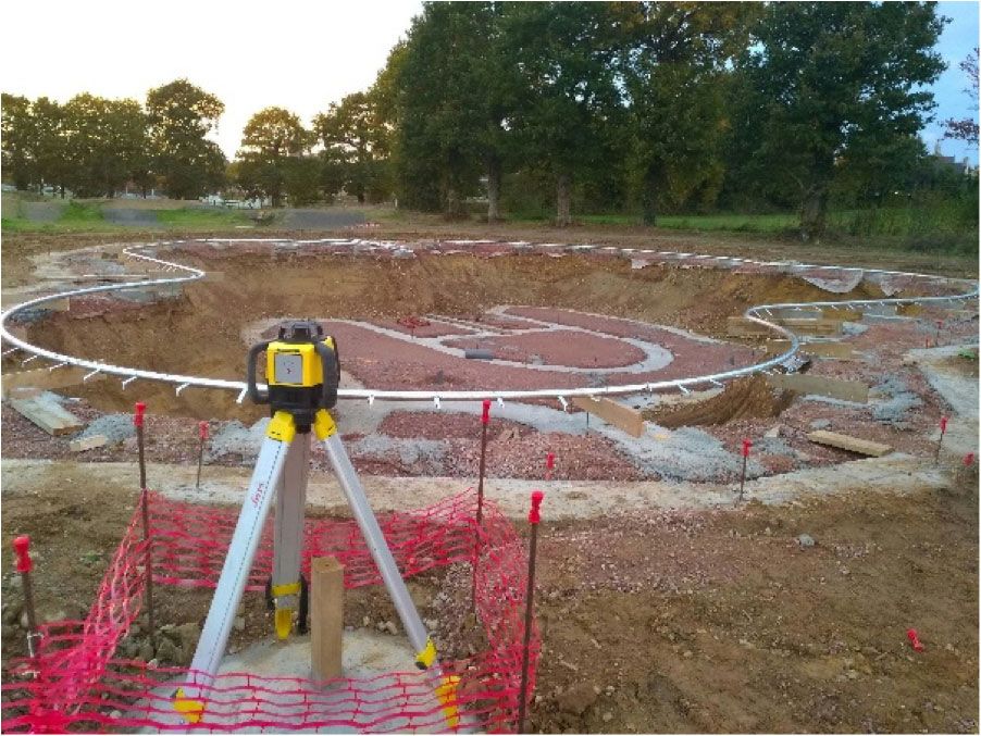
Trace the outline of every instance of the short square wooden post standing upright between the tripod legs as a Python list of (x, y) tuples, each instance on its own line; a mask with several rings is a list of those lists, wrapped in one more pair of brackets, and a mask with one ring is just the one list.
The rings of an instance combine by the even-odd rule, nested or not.
[(310, 564), (310, 656), (314, 679), (340, 676), (344, 635), (344, 565), (333, 557)]

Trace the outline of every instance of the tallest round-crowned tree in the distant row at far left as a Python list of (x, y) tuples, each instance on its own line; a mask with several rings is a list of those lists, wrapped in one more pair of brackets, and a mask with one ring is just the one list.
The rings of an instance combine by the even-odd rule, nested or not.
[(167, 196), (197, 199), (221, 187), (227, 161), (206, 136), (218, 129), (224, 111), (218, 97), (187, 79), (147, 93), (152, 166), (163, 177)]

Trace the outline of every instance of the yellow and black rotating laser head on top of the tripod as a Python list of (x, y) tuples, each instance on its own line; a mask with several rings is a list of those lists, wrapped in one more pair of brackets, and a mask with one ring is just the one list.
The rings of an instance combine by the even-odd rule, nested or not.
[[(259, 353), (263, 351), (266, 392), (260, 391), (256, 384)], [(288, 412), (300, 432), (309, 431), (319, 410), (333, 409), (339, 383), (337, 342), (324, 335), (316, 322), (284, 322), (277, 339), (260, 342), (249, 350), (249, 398), (256, 403), (270, 404), (273, 413)]]

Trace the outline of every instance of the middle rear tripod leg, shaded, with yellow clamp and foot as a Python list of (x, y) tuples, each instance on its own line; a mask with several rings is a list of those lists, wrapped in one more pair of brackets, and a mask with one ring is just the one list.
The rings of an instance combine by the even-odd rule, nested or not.
[[(289, 446), (286, 466), (276, 490), (273, 577), (270, 586), (276, 604), (276, 636), (285, 639), (293, 629), (300, 584), (300, 553), (303, 549), (303, 509), (310, 472), (310, 435), (299, 435)], [(302, 615), (302, 611), (300, 612)], [(299, 622), (302, 631), (305, 622)]]

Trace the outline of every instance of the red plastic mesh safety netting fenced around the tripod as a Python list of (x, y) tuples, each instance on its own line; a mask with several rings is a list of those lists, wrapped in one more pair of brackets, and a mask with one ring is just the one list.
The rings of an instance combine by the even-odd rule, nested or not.
[[(235, 510), (150, 498), (154, 583), (211, 587), (224, 561)], [(476, 612), (487, 649), (440, 661), (440, 671), (392, 672), (372, 678), (323, 683), (295, 677), (219, 674), (201, 698), (204, 718), (187, 723), (174, 710), (174, 693), (189, 671), (150, 668), (114, 657), (142, 607), (146, 542), (134, 515), (83, 622), (41, 627), (32, 660), (15, 662), (2, 687), (4, 732), (271, 731), (510, 732), (521, 678), (527, 553), (513, 526), (493, 503), (475, 522), (476, 497), (456, 496), (427, 509), (380, 517), (385, 538), (408, 577), (454, 563), (476, 566)], [(272, 548), (266, 526), (250, 574), (250, 589), (269, 576)], [(345, 585), (381, 584), (353, 521), (308, 520), (303, 566), (333, 554), (345, 564)], [(533, 624), (530, 687), (539, 651)], [(452, 682), (452, 687), (446, 683)]]

